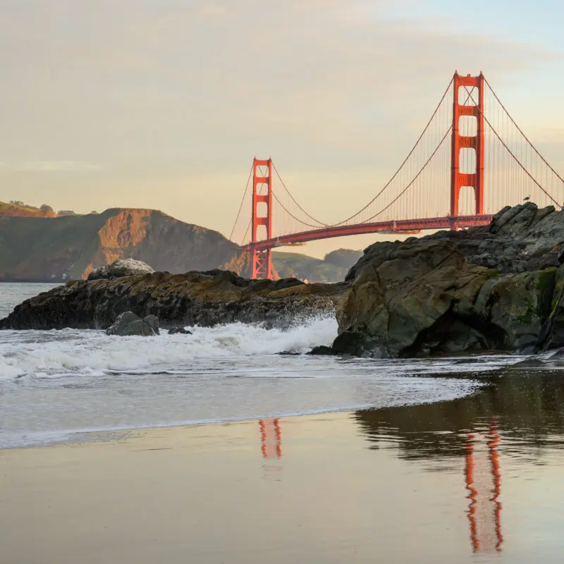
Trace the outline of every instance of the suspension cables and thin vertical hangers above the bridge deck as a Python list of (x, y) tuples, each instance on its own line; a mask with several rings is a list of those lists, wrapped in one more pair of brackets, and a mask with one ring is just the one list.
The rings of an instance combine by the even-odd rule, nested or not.
[[(274, 209), (271, 210), (271, 216), (274, 239), (285, 237), (288, 240), (292, 234), (316, 230), (324, 233), (331, 229), (342, 231), (348, 227), (372, 225), (376, 219), (379, 223), (393, 222), (395, 228), (396, 221), (405, 223), (407, 220), (415, 224), (426, 218), (448, 216), (452, 163), (447, 140), (453, 131), (453, 80), (450, 80), (431, 118), (396, 172), (372, 200), (347, 219), (331, 223), (319, 221), (309, 214), (295, 200), (273, 163), (275, 177), (271, 179), (271, 190)], [(458, 92), (465, 94), (460, 98), (460, 105), (477, 106), (488, 130), (494, 134), (486, 136), (486, 147), (483, 149), (486, 187), (484, 213), (494, 214), (501, 207), (522, 202), (527, 197), (539, 206), (564, 202), (563, 178), (532, 145), (485, 79), (484, 85), (484, 111), (474, 97), (475, 87), (469, 89), (464, 86), (465, 93), (462, 89)], [(458, 128), (461, 137), (477, 135), (477, 114), (461, 116)], [(471, 175), (476, 170), (474, 149), (461, 149), (459, 166), (460, 173)], [(235, 235), (235, 240), (243, 245), (250, 243), (252, 207), (248, 195), (251, 176), (252, 170), (230, 237), (234, 240)], [(461, 216), (474, 216), (473, 188), (461, 188), (459, 205)], [(241, 235), (240, 232), (243, 232), (243, 236), (236, 236), (237, 233)]]

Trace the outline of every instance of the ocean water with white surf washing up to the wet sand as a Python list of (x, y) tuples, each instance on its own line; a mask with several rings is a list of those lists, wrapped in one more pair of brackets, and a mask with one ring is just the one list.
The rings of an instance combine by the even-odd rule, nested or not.
[[(52, 287), (0, 284), (0, 318)], [(332, 316), (301, 320), (288, 331), (244, 324), (190, 330), (152, 338), (0, 331), (0, 448), (82, 441), (92, 431), (453, 400), (475, 393), (481, 373), (518, 360), (305, 355), (333, 341)]]

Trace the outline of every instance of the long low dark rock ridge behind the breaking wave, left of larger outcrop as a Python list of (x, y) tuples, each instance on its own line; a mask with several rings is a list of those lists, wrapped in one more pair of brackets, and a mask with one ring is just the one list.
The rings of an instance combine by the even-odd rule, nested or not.
[(72, 281), (25, 300), (0, 321), (0, 329), (107, 329), (123, 312), (156, 315), (166, 329), (235, 321), (287, 326), (333, 312), (347, 286), (295, 278), (253, 281), (223, 270)]

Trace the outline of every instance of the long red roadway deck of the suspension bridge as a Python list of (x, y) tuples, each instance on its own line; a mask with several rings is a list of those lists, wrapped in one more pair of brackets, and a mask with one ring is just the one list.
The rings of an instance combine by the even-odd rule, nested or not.
[(474, 216), (445, 216), (427, 217), (423, 219), (398, 219), (395, 221), (377, 221), (376, 223), (357, 223), (356, 225), (329, 226), (312, 231), (302, 231), (291, 235), (280, 235), (271, 239), (256, 241), (243, 245), (243, 249), (266, 250), (273, 247), (283, 247), (291, 243), (305, 243), (319, 239), (332, 237), (344, 237), (345, 235), (366, 235), (367, 233), (402, 233), (402, 231), (422, 231), (424, 229), (457, 229), (488, 225), (491, 215)]

